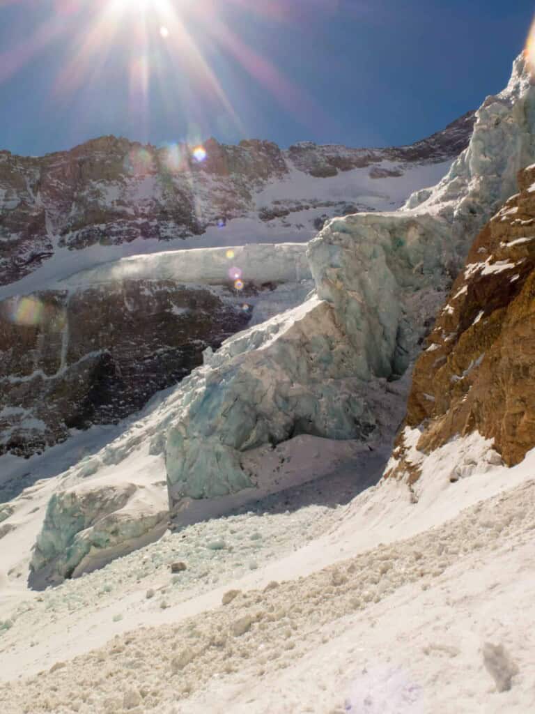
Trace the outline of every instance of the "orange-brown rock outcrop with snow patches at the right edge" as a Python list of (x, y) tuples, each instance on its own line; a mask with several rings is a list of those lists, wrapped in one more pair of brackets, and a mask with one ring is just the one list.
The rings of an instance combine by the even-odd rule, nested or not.
[[(430, 453), (475, 431), (512, 466), (535, 446), (535, 166), (479, 233), (414, 368), (406, 424)], [(404, 453), (392, 475), (419, 468)]]

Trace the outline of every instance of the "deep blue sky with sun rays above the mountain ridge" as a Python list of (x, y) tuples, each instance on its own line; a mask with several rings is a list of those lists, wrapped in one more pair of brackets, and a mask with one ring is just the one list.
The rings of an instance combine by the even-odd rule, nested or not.
[[(509, 78), (524, 0), (0, 0), (0, 148), (404, 144)], [(164, 29), (162, 29), (164, 28)]]

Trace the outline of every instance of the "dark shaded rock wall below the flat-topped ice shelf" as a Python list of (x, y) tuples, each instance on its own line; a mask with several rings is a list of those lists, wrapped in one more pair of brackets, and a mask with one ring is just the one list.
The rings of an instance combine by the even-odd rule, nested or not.
[(116, 423), (177, 383), (250, 313), (207, 288), (121, 281), (0, 303), (0, 453)]

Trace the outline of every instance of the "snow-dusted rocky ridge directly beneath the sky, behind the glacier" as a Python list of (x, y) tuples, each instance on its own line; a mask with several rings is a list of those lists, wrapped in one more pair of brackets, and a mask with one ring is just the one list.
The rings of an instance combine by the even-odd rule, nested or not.
[[(0, 151), (0, 286), (69, 251), (98, 248), (102, 262), (111, 246), (136, 241), (137, 253), (161, 250), (162, 241), (210, 226), (228, 233), (235, 218), (253, 219), (249, 231), (266, 223), (287, 240), (305, 231), (306, 240), (327, 218), (397, 207), (413, 188), (437, 180), (467, 145), (473, 123), (469, 113), (412, 146), (372, 151), (310, 143), (282, 151), (269, 141), (210, 139), (198, 161), (190, 146), (156, 149), (113, 136), (41, 158)], [(438, 175), (422, 172), (442, 164)]]

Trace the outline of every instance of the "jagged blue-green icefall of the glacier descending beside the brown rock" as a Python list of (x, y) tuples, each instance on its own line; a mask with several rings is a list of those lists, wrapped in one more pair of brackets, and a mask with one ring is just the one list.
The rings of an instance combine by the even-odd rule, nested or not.
[[(150, 416), (88, 459), (86, 473), (150, 441), (165, 459), (170, 517), (180, 527), (200, 501), (230, 506), (240, 493), (254, 497), (259, 486), (265, 493), (253, 452), (267, 458), (301, 436), (370, 448), (392, 441), (410, 366), (445, 292), (477, 231), (514, 192), (516, 171), (534, 161), (534, 89), (519, 57), (437, 186), (396, 212), (328, 221), (306, 248), (312, 296), (206, 353)], [(287, 486), (284, 473), (272, 491)], [(61, 528), (56, 511), (41, 542)], [(34, 571), (47, 557), (42, 550), (34, 557)]]

